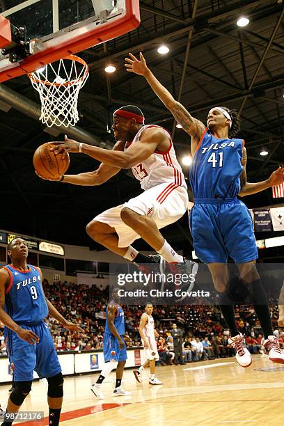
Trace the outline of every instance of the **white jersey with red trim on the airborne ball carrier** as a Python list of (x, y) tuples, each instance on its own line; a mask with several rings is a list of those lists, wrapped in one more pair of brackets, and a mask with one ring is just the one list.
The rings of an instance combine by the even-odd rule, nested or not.
[(136, 166), (132, 167), (132, 173), (136, 179), (140, 180), (141, 187), (144, 191), (166, 182), (173, 184), (173, 189), (175, 189), (175, 187), (184, 187), (187, 189), (187, 183), (185, 182), (182, 168), (175, 155), (171, 134), (163, 127), (157, 125), (146, 125), (141, 127), (133, 141), (125, 145), (125, 150), (127, 150), (132, 143), (138, 142), (142, 132), (150, 127), (159, 127), (168, 137), (170, 146), (167, 151), (163, 152), (156, 150), (142, 163), (136, 164)]

